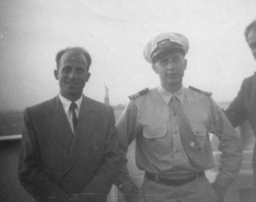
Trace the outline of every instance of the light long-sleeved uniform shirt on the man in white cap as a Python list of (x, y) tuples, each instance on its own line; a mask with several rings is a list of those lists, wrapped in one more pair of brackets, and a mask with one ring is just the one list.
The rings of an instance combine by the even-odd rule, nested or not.
[[(159, 87), (131, 100), (117, 122), (117, 129), (122, 156), (126, 155), (129, 143), (136, 138), (135, 158), (139, 169), (163, 178), (179, 179), (212, 168), (214, 160), (211, 148), (208, 148), (203, 154), (207, 157), (203, 166), (191, 164), (190, 154), (186, 154), (182, 146), (175, 118), (178, 115), (171, 109), (171, 96)], [(201, 149), (210, 147), (209, 133), (218, 135), (222, 155), (217, 183), (228, 187), (241, 166), (239, 135), (211, 97), (186, 88), (174, 96), (181, 102)], [(127, 168), (122, 167), (122, 170), (123, 175), (127, 175)]]

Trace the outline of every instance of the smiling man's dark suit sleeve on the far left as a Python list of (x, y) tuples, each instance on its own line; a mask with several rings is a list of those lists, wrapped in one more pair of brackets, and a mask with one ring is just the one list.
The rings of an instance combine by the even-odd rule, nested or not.
[(24, 127), (19, 150), (19, 180), (26, 191), (37, 200), (64, 201), (69, 195), (43, 173), (39, 159), (37, 133), (31, 121), (30, 110), (27, 108), (24, 113)]

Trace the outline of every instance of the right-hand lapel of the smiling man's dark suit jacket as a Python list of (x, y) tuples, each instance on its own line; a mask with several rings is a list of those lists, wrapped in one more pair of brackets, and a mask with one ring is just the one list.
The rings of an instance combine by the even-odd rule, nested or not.
[(95, 130), (95, 123), (97, 123), (97, 113), (95, 113), (90, 100), (85, 96), (83, 96), (80, 110), (77, 130), (75, 131), (74, 141), (63, 169), (63, 175), (70, 170), (79, 156), (83, 154), (86, 149), (89, 149), (90, 139)]

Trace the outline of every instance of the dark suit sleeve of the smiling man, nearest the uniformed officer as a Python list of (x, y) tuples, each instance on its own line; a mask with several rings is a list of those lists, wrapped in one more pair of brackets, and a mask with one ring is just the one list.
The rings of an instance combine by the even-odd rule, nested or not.
[(90, 183), (86, 185), (81, 192), (87, 194), (93, 193), (92, 195), (87, 195), (89, 201), (104, 201), (106, 199), (106, 195), (113, 185), (113, 178), (116, 172), (115, 167), (119, 160), (118, 151), (118, 133), (115, 127), (114, 112), (113, 109), (111, 109), (109, 113), (103, 163)]

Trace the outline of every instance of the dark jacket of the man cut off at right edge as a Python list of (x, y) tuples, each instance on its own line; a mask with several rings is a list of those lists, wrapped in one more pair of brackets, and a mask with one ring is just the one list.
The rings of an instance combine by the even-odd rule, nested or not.
[[(256, 73), (243, 80), (237, 97), (225, 110), (225, 114), (234, 127), (248, 120), (256, 137)], [(256, 174), (256, 147), (254, 147), (253, 168)]]

